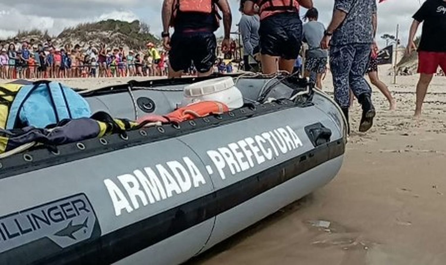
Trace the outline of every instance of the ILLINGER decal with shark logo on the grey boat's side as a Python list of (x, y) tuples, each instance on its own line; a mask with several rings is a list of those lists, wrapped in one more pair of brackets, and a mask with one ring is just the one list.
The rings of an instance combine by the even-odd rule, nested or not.
[(99, 238), (100, 234), (99, 222), (85, 194), (23, 209), (0, 217), (0, 264), (2, 255), (7, 256), (12, 249), (54, 251)]

